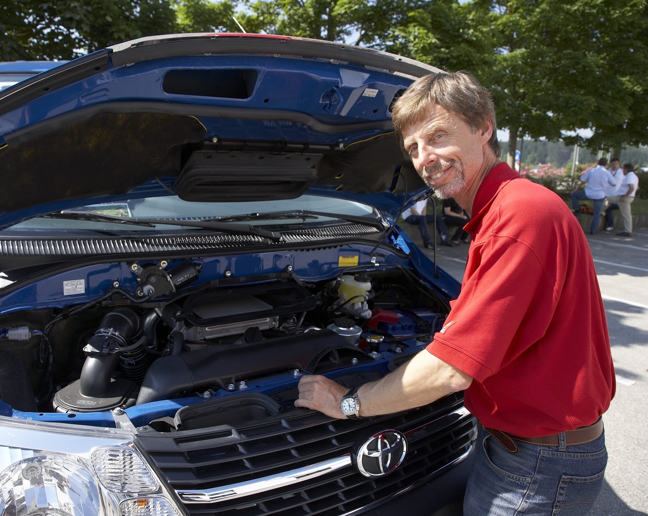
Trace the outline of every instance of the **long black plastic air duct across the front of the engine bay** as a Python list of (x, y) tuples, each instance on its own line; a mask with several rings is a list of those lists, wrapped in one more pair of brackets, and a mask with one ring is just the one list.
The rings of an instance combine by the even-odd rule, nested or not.
[(293, 333), (276, 339), (211, 346), (157, 359), (146, 372), (137, 405), (177, 398), (198, 387), (227, 388), (239, 380), (299, 369), (321, 373), (370, 362), (364, 352), (331, 330)]

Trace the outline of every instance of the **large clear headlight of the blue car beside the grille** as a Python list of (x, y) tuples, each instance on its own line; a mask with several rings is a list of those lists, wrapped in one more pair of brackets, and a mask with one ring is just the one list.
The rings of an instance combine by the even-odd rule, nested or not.
[(0, 513), (16, 516), (184, 514), (135, 447), (114, 429), (38, 429), (0, 418)]

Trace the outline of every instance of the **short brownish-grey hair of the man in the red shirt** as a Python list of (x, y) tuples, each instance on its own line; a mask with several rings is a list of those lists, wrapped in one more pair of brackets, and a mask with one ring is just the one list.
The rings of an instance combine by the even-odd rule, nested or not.
[(426, 75), (403, 93), (394, 103), (391, 113), (394, 130), (401, 144), (403, 131), (424, 120), (432, 104), (443, 107), (448, 113), (459, 115), (475, 132), (490, 120), (492, 136), (489, 146), (496, 157), (502, 155), (491, 94), (467, 72)]

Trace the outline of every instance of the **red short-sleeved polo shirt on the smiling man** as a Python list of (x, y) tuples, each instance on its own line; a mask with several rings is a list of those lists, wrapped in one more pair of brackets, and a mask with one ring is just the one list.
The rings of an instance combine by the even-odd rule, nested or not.
[(485, 427), (538, 437), (594, 423), (614, 396), (614, 366), (579, 223), (506, 163), (472, 213), (461, 293), (428, 351), (473, 377), (465, 405)]

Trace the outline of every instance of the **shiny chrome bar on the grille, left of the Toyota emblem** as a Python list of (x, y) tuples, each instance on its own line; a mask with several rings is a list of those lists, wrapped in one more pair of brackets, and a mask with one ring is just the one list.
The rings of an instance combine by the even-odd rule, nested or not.
[(185, 504), (213, 504), (222, 500), (232, 500), (248, 495), (256, 495), (264, 491), (270, 491), (270, 489), (292, 486), (292, 484), (297, 484), (297, 482), (321, 477), (322, 475), (327, 475), (327, 473), (338, 471), (338, 469), (347, 466), (351, 466), (351, 454), (349, 453), (338, 458), (318, 462), (318, 464), (313, 464), (312, 466), (300, 467), (286, 471), (285, 473), (257, 478), (257, 480), (250, 482), (238, 482), (237, 484), (229, 484), (229, 486), (222, 486), (205, 491), (199, 489), (176, 490), (176, 493), (178, 493), (178, 497)]

